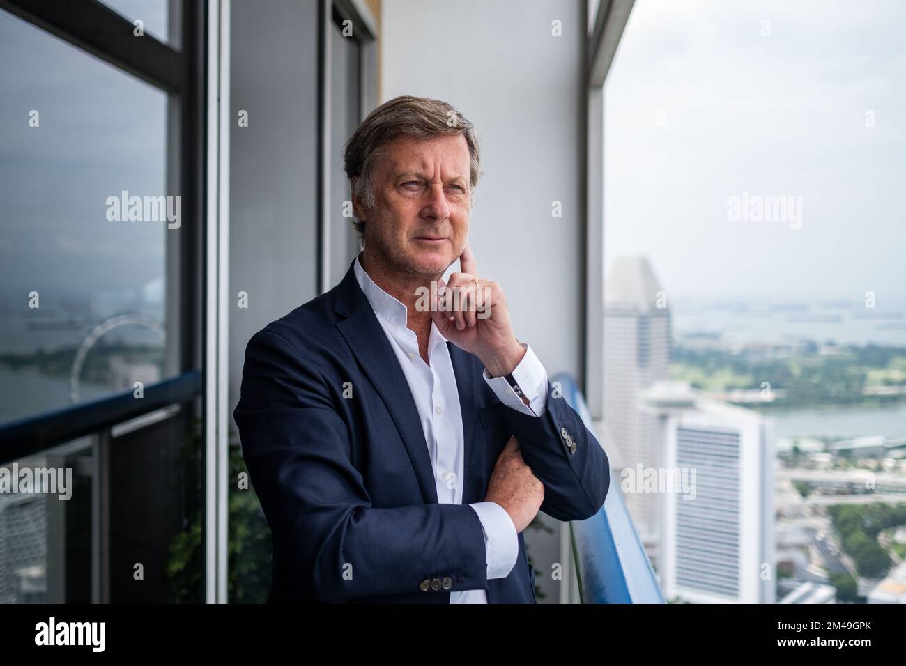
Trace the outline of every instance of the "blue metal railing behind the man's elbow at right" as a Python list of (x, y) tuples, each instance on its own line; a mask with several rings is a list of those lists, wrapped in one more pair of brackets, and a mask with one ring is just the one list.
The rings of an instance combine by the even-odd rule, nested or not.
[[(552, 381), (559, 383), (570, 407), (594, 432), (592, 415), (573, 378), (561, 373)], [(620, 478), (613, 468), (601, 510), (569, 525), (582, 603), (667, 603), (623, 502)]]

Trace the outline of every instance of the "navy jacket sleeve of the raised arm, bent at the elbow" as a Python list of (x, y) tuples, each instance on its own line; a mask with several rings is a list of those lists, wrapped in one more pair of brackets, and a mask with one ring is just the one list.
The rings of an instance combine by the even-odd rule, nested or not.
[(610, 462), (598, 439), (565, 398), (552, 390), (550, 381), (541, 416), (508, 406), (503, 416), (525, 464), (545, 485), (541, 510), (564, 521), (594, 516), (610, 487)]

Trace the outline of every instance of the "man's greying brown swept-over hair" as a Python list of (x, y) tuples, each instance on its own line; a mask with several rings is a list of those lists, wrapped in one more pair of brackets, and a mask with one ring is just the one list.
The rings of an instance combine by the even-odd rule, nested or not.
[[(474, 189), (482, 171), (478, 136), (471, 122), (446, 101), (410, 95), (385, 101), (361, 121), (361, 125), (346, 142), (343, 168), (350, 179), (353, 196), (361, 198), (367, 208), (374, 208), (374, 165), (378, 158), (386, 154), (382, 149), (390, 141), (402, 137), (430, 140), (443, 135), (459, 134), (466, 137), (471, 158), (469, 185), (470, 189)], [(471, 202), (472, 197), (469, 200)], [(353, 218), (352, 225), (360, 237), (364, 236), (365, 220)]]

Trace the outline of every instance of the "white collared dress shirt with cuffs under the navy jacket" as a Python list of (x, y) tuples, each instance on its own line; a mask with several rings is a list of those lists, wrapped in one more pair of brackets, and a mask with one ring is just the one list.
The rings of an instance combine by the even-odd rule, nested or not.
[[(447, 338), (431, 322), (428, 342), (430, 364), (425, 363), (419, 354), (418, 336), (407, 327), (406, 305), (371, 280), (361, 267), (358, 256), (354, 270), (356, 280), (387, 334), (390, 347), (409, 383), (428, 443), (438, 501), (462, 504), (465, 450), (462, 412)], [(487, 369), (483, 376), (501, 402), (524, 414), (541, 416), (547, 401), (547, 372), (532, 348), (527, 343), (521, 344), (525, 348), (525, 356), (513, 371), (513, 377), (529, 400), (529, 405), (516, 396), (506, 378), (492, 378)], [(505, 578), (516, 565), (519, 555), (516, 526), (506, 510), (496, 502), (476, 502), (469, 506), (475, 509), (484, 531), (487, 577)], [(451, 592), (450, 603), (487, 603), (487, 593), (481, 589)]]

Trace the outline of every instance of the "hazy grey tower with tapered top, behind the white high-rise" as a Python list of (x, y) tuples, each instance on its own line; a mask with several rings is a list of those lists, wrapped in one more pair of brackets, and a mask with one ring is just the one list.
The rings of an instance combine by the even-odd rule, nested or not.
[[(615, 449), (612, 467), (657, 468), (661, 442), (654, 421), (640, 409), (641, 391), (668, 379), (670, 308), (642, 256), (618, 258), (604, 282), (604, 424)], [(626, 505), (642, 544), (657, 568), (657, 497), (627, 494)]]

